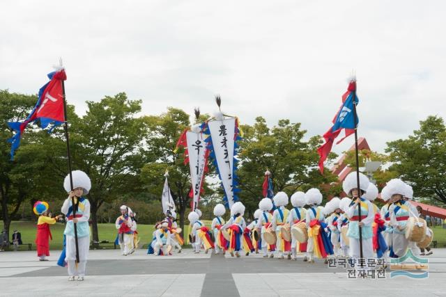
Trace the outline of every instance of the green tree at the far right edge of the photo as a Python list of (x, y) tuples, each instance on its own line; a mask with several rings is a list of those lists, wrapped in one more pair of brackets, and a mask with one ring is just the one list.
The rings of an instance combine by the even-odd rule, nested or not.
[(429, 116), (406, 139), (387, 143), (391, 170), (413, 186), (415, 195), (446, 203), (446, 127), (443, 118)]

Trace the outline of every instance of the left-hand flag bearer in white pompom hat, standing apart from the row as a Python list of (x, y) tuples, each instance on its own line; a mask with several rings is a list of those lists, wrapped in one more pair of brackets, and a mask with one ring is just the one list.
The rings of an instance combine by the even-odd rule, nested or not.
[[(62, 213), (67, 221), (66, 235), (66, 262), (68, 263), (68, 280), (84, 280), (86, 262), (89, 257), (90, 241), (90, 202), (82, 195), (89, 193), (91, 181), (85, 172), (80, 170), (72, 171), (72, 189), (70, 185), (70, 175), (67, 175), (63, 182), (63, 187), (68, 192), (68, 198), (63, 202)], [(74, 202), (74, 204), (73, 204)], [(79, 263), (76, 263), (76, 239), (75, 228), (77, 230), (77, 246), (79, 248)]]

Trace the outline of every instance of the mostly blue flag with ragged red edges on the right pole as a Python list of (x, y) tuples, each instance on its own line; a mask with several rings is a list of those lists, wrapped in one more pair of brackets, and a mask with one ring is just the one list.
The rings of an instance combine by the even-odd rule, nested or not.
[[(354, 103), (355, 102), (355, 103)], [(337, 111), (336, 115), (332, 120), (333, 126), (328, 129), (325, 134), (323, 134), (323, 138), (325, 139), (325, 143), (318, 148), (318, 154), (321, 156), (319, 159), (319, 170), (323, 173), (323, 162), (327, 159), (328, 154), (330, 154), (332, 150), (332, 146), (334, 143), (334, 139), (339, 136), (342, 129), (345, 129), (345, 136), (341, 138), (336, 144), (341, 143), (344, 139), (351, 134), (355, 133), (355, 128), (357, 127), (357, 123), (359, 120), (356, 117), (356, 125), (355, 125), (355, 116), (353, 113), (353, 104), (358, 104), (359, 99), (356, 96), (356, 80), (352, 79), (348, 84), (347, 92), (342, 95), (342, 105)]]

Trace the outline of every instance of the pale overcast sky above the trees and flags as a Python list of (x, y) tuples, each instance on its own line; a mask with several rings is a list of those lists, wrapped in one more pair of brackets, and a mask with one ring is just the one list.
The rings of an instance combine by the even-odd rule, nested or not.
[[(69, 2), (69, 3), (68, 3)], [(144, 114), (217, 107), (328, 130), (352, 70), (372, 150), (446, 118), (445, 1), (1, 1), (0, 89), (37, 93), (59, 57), (67, 99), (125, 92)], [(334, 148), (346, 150), (353, 137)]]

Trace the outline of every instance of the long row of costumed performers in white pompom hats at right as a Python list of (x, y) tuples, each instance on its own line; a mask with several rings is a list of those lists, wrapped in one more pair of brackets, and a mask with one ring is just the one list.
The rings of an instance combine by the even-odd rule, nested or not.
[[(360, 246), (363, 259), (384, 258), (388, 262), (391, 257), (405, 256), (408, 249), (413, 255), (420, 255), (420, 248), (429, 246), (432, 230), (408, 202), (413, 190), (401, 179), (387, 182), (381, 192), (386, 204), (381, 209), (374, 203), (378, 188), (362, 173), (360, 188), (356, 172), (351, 172), (342, 186), (348, 197), (332, 198), (325, 207), (321, 206), (323, 197), (317, 188), (294, 193), (292, 209), (286, 209), (289, 198), (284, 192), (272, 199), (263, 198), (249, 225), (243, 217), (245, 206), (241, 202), (233, 204), (227, 222), (222, 218), (224, 206), (217, 204), (210, 228), (200, 220), (201, 212), (197, 209), (188, 216), (190, 243), (194, 252), (203, 248), (206, 252), (214, 250), (215, 254), (229, 252), (233, 257), (261, 252), (265, 258), (297, 259), (301, 252), (303, 261), (309, 263), (315, 258), (360, 259)], [(164, 222), (159, 227), (162, 230), (164, 225), (167, 231), (155, 233), (170, 235), (164, 235), (163, 239), (154, 234), (157, 239), (154, 250), (157, 245), (172, 246), (167, 242), (172, 242), (169, 224)]]

